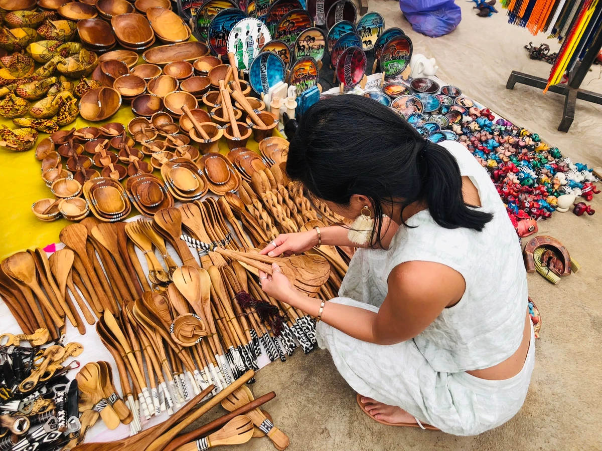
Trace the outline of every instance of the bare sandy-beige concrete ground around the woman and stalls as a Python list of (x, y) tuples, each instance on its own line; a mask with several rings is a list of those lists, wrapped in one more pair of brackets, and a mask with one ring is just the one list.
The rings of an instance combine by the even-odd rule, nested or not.
[[(400, 26), (414, 42), (414, 52), (435, 57), (442, 79), (461, 88), (489, 108), (529, 127), (573, 161), (602, 165), (602, 108), (578, 102), (576, 121), (568, 134), (557, 132), (563, 98), (517, 85), (505, 89), (511, 70), (547, 78), (550, 65), (532, 61), (524, 44), (554, 41), (533, 37), (507, 24), (506, 11), (489, 18), (474, 15), (472, 3), (458, 1), (464, 18), (452, 34), (428, 38), (412, 31), (399, 5), (371, 0), (386, 26)], [(602, 91), (600, 70), (588, 75), (586, 89)], [(527, 400), (518, 415), (500, 428), (477, 437), (379, 425), (359, 411), (355, 393), (337, 373), (325, 351), (297, 351), (286, 363), (275, 362), (259, 372), (252, 390), (259, 396), (276, 391), (265, 405), (275, 424), (291, 439), (290, 450), (600, 450), (602, 449), (602, 304), (596, 280), (602, 276), (600, 225), (602, 195), (592, 201), (597, 215), (578, 218), (554, 213), (539, 222), (539, 234), (566, 245), (582, 265), (578, 274), (556, 286), (538, 274), (529, 275), (529, 294), (542, 314), (536, 342), (535, 372)], [(596, 232), (598, 230), (598, 232)], [(483, 283), (487, 275), (483, 274)], [(487, 312), (475, 312), (485, 315)], [(214, 416), (223, 414), (216, 408)], [(207, 417), (203, 419), (211, 419)], [(225, 448), (224, 448), (225, 449)], [(240, 450), (273, 450), (267, 438), (253, 439)]]

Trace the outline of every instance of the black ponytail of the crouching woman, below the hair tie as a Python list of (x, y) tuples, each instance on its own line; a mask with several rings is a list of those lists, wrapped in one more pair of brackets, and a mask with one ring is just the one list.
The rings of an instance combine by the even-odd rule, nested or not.
[(417, 159), (424, 165), (423, 198), (435, 222), (445, 229), (483, 230), (493, 215), (464, 202), (460, 168), (453, 155), (427, 141)]

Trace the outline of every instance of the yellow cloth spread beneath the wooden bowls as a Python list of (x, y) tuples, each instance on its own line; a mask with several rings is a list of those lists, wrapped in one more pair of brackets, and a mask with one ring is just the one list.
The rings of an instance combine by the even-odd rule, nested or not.
[[(138, 63), (143, 62), (142, 58), (138, 61)], [(134, 114), (129, 103), (124, 103), (119, 111), (106, 121), (95, 123), (78, 117), (75, 122), (63, 127), (63, 129), (100, 126), (108, 122), (120, 122), (127, 125), (133, 117)], [(11, 129), (17, 128), (10, 119), (2, 117), (0, 119), (0, 124)], [(278, 132), (276, 131), (276, 133)], [(36, 145), (27, 152), (11, 152), (0, 148), (0, 186), (2, 186), (3, 191), (3, 194), (0, 195), (0, 259), (4, 259), (17, 251), (45, 247), (48, 244), (58, 242), (58, 233), (63, 227), (70, 224), (70, 221), (66, 219), (58, 219), (52, 222), (40, 221), (31, 211), (31, 205), (36, 200), (54, 197), (42, 180), (41, 162), (34, 156), (37, 143), (46, 137), (48, 137), (48, 134), (40, 133)], [(246, 147), (258, 152), (258, 145), (252, 138), (251, 136)], [(140, 146), (136, 147), (139, 148)], [(223, 138), (220, 141), (220, 152), (228, 153), (228, 146)], [(147, 157), (146, 160), (149, 161), (149, 158)], [(65, 162), (66, 160), (63, 158), (63, 164)], [(155, 170), (154, 174), (161, 177), (158, 170)], [(132, 208), (132, 215), (138, 214), (140, 213)]]

